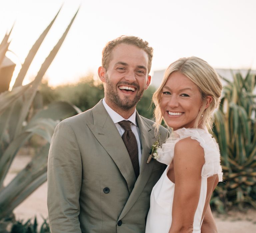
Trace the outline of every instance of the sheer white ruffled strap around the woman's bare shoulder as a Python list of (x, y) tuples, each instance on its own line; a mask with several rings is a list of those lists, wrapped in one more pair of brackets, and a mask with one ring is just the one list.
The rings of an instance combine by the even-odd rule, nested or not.
[(219, 181), (222, 181), (223, 173), (220, 165), (219, 146), (212, 135), (204, 129), (181, 128), (175, 130), (162, 145), (162, 148), (157, 150), (159, 155), (157, 160), (169, 165), (173, 160), (176, 142), (186, 137), (197, 140), (204, 149), (205, 164), (203, 165), (201, 175), (208, 178), (214, 174), (218, 174)]

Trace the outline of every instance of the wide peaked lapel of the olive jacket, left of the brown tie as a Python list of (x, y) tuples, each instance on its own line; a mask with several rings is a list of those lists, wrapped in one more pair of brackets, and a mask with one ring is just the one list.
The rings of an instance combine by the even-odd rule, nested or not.
[(87, 123), (87, 126), (117, 165), (131, 193), (136, 181), (132, 162), (124, 142), (102, 101), (92, 109), (92, 115), (93, 124)]

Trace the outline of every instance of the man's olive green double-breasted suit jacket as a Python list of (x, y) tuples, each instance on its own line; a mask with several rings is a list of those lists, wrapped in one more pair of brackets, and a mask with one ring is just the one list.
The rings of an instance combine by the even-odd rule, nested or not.
[[(153, 121), (136, 113), (142, 158), (136, 181), (123, 140), (102, 101), (60, 122), (48, 159), (48, 213), (52, 233), (144, 233), (150, 193), (165, 169), (151, 160)], [(160, 140), (168, 131), (161, 127)]]

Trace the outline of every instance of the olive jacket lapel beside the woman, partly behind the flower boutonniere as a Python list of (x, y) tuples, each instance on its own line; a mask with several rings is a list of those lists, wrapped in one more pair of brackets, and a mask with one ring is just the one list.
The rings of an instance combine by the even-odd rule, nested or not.
[(139, 116), (138, 113), (136, 113), (136, 119), (139, 125), (140, 129), (140, 136), (141, 136), (141, 143), (142, 143), (142, 154), (141, 154), (141, 164), (140, 164), (140, 175), (135, 183), (135, 186), (133, 188), (133, 191), (128, 198), (126, 205), (123, 208), (123, 211), (121, 215), (119, 216), (119, 219), (123, 218), (128, 211), (131, 209), (133, 204), (138, 199), (139, 195), (143, 191), (149, 176), (152, 172), (154, 163), (147, 163), (147, 159), (149, 156), (149, 151), (151, 149), (151, 146), (154, 142), (154, 130), (152, 127), (145, 123), (145, 121), (142, 119), (141, 116)]

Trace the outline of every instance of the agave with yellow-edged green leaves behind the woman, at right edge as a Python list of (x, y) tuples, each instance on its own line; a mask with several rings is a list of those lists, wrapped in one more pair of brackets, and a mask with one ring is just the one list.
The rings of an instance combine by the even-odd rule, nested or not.
[(224, 182), (212, 202), (224, 211), (230, 205), (256, 208), (256, 76), (233, 75), (224, 79), (220, 109), (215, 113), (213, 132), (220, 146)]

